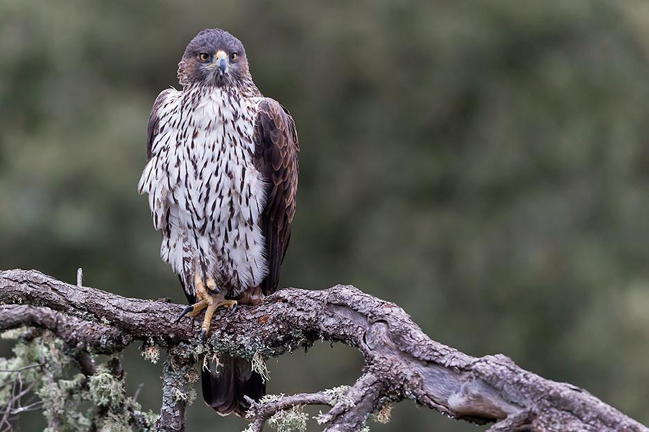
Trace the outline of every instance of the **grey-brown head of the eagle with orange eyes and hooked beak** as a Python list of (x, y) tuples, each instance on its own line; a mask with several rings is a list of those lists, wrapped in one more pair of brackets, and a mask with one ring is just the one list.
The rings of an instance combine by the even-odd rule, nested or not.
[(178, 64), (178, 80), (183, 87), (247, 84), (251, 77), (243, 44), (220, 28), (202, 30), (185, 48)]

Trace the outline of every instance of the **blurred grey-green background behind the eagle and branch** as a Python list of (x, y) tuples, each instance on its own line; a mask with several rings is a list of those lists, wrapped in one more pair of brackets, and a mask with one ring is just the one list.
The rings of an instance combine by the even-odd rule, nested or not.
[[(150, 106), (214, 26), (297, 123), (283, 286), (354, 284), (649, 422), (643, 0), (2, 0), (0, 268), (185, 301), (136, 184)], [(293, 393), (352, 384), (362, 359), (323, 343), (269, 366)], [(132, 347), (125, 367), (157, 410), (160, 364)], [(245, 426), (198, 402), (188, 422)], [(484, 429), (412, 402), (372, 427)]]

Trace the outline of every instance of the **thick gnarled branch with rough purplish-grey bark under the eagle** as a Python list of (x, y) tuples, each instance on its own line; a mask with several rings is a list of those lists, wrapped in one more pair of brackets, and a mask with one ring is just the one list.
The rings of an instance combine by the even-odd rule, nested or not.
[[(183, 306), (165, 300), (125, 298), (37, 271), (10, 270), (0, 273), (0, 302), (0, 329), (45, 327), (79, 350), (114, 352), (133, 341), (168, 350), (198, 347), (200, 323), (175, 323)], [(257, 307), (216, 315), (208, 345), (217, 353), (277, 357), (322, 339), (363, 353), (363, 375), (345, 397), (354, 403), (335, 404), (325, 414), (327, 431), (357, 430), (386, 402), (407, 398), (456, 419), (496, 422), (492, 431), (649, 432), (587, 391), (539, 377), (508, 357), (471, 357), (435, 342), (403, 309), (351, 286), (284, 289)], [(322, 403), (319, 394), (310, 400)], [(290, 402), (257, 404), (259, 427)], [(178, 411), (182, 422), (184, 409)]]

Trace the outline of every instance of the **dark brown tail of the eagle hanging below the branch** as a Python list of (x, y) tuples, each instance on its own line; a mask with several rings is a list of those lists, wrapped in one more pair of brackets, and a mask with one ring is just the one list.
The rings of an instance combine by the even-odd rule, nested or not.
[(209, 370), (200, 373), (203, 399), (220, 415), (235, 413), (245, 417), (250, 409), (244, 396), (259, 400), (266, 394), (266, 383), (253, 372), (250, 361), (236, 357), (220, 359), (221, 366), (209, 362)]

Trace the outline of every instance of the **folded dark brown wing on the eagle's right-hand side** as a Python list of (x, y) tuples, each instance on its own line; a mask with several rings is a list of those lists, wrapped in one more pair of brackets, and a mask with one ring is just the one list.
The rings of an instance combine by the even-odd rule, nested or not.
[(291, 114), (279, 102), (260, 102), (254, 125), (254, 165), (266, 186), (266, 208), (261, 214), (261, 231), (266, 238), (268, 276), (261, 282), (263, 294), (272, 294), (279, 282), (297, 193), (297, 132)]

